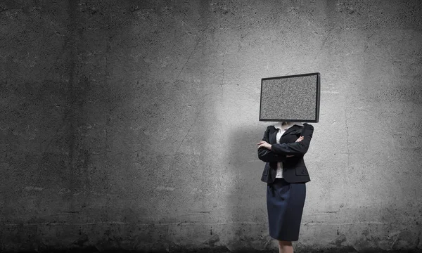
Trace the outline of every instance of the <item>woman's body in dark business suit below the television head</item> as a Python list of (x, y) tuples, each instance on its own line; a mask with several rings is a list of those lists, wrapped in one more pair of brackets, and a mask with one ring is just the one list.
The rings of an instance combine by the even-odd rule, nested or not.
[(269, 235), (279, 240), (280, 253), (293, 253), (299, 238), (309, 174), (303, 160), (314, 127), (298, 122), (279, 122), (267, 127), (257, 143), (258, 157), (265, 162), (261, 181), (267, 183)]

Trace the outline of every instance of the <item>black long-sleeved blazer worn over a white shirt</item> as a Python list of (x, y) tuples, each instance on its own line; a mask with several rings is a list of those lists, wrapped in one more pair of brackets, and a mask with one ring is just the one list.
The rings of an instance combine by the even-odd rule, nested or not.
[[(262, 171), (261, 181), (265, 183), (274, 182), (277, 162), (283, 162), (283, 179), (288, 183), (306, 183), (311, 181), (303, 156), (307, 153), (311, 143), (314, 126), (307, 123), (303, 124), (303, 126), (291, 126), (281, 136), (279, 144), (276, 142), (278, 131), (279, 129), (274, 126), (268, 126), (262, 141), (272, 144), (271, 150), (258, 148), (258, 158), (266, 162), (264, 171)], [(304, 137), (303, 140), (295, 142), (300, 136)], [(286, 157), (286, 155), (294, 155), (294, 157)]]

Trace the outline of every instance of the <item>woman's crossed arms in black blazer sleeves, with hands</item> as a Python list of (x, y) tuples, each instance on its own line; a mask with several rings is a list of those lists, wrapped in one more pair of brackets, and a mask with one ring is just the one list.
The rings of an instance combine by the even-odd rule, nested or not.
[(298, 139), (295, 143), (276, 143), (269, 144), (269, 128), (264, 133), (264, 137), (258, 145), (258, 158), (264, 162), (284, 162), (286, 157), (305, 155), (311, 143), (312, 134), (314, 133), (314, 126), (305, 124), (302, 131), (303, 137)]

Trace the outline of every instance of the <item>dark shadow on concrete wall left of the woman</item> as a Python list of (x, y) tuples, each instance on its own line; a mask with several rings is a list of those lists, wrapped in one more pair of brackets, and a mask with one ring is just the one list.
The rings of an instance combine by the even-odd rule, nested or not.
[[(271, 124), (271, 122), (268, 122)], [(227, 196), (231, 231), (227, 232), (231, 251), (274, 249), (267, 226), (266, 188), (260, 181), (264, 162), (257, 157), (256, 143), (266, 126), (245, 124), (233, 129), (229, 136), (228, 174), (233, 186)], [(274, 245), (275, 246), (275, 245)]]

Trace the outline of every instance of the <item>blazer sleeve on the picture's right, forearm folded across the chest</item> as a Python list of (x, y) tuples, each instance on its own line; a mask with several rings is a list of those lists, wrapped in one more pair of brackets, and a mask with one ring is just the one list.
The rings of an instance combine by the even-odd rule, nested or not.
[(271, 151), (276, 155), (305, 155), (311, 143), (312, 134), (314, 134), (314, 126), (305, 123), (303, 127), (303, 141), (272, 144)]

